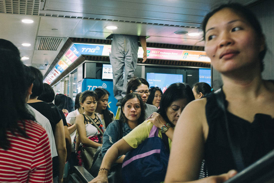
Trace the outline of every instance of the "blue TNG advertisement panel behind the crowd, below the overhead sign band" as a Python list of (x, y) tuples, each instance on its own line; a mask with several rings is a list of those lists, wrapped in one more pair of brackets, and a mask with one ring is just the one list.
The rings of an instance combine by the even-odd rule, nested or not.
[(114, 98), (113, 95), (113, 82), (112, 81), (102, 81), (101, 79), (83, 79), (82, 82), (82, 92), (85, 90), (92, 90), (94, 91), (96, 88), (105, 88), (107, 91), (109, 91), (109, 103), (108, 107), (109, 110), (116, 115), (116, 111), (118, 107), (116, 106), (117, 100)]

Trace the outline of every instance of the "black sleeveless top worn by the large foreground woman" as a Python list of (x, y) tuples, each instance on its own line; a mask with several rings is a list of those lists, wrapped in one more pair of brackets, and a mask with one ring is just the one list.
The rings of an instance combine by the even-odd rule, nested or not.
[[(224, 114), (217, 106), (214, 94), (207, 96), (206, 118), (209, 132), (204, 158), (209, 176), (236, 169), (227, 139)], [(274, 149), (274, 119), (270, 115), (256, 114), (250, 123), (227, 111), (227, 118), (232, 142), (239, 142), (246, 167)]]

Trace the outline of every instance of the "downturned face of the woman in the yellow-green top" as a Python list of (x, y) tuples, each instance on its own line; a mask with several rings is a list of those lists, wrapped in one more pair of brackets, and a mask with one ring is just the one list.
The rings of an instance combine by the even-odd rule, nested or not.
[(169, 118), (169, 121), (176, 125), (181, 112), (187, 104), (187, 99), (185, 98), (172, 102), (170, 106), (166, 109), (166, 114), (167, 118)]

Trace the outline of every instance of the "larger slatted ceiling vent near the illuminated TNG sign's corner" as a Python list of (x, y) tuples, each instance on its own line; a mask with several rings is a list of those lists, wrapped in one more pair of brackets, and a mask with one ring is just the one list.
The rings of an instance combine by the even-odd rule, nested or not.
[(37, 37), (36, 50), (57, 51), (64, 38)]

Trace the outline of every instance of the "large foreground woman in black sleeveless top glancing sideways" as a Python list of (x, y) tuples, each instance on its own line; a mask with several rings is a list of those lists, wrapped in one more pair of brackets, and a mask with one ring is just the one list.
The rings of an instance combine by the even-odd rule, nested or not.
[[(203, 30), (205, 51), (224, 85), (220, 95), (210, 94), (185, 107), (174, 132), (165, 182), (224, 182), (234, 176), (237, 165), (229, 133), (240, 147), (244, 167), (274, 148), (274, 84), (261, 78), (266, 45), (258, 20), (242, 5), (224, 4), (205, 17)], [(196, 180), (203, 158), (208, 174), (215, 176)]]

